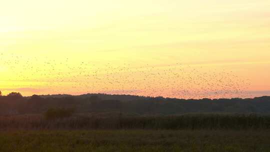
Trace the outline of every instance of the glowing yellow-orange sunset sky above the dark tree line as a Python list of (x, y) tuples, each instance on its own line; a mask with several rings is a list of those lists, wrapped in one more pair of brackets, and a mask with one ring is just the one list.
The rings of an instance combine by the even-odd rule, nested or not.
[(270, 95), (270, 0), (3, 0), (0, 90)]

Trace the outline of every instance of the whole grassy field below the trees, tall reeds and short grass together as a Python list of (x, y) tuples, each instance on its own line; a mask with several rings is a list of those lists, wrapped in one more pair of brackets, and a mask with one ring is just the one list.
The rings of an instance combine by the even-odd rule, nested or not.
[(51, 114), (0, 116), (0, 151), (270, 151), (268, 115)]

